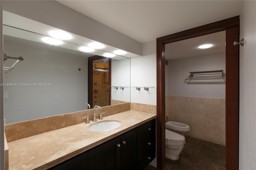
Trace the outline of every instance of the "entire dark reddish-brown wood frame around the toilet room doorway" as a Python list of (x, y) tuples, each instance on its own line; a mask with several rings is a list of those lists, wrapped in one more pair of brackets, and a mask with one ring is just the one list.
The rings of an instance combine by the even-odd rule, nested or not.
[(239, 16), (156, 39), (157, 168), (165, 168), (165, 44), (226, 31), (226, 170), (239, 161)]

